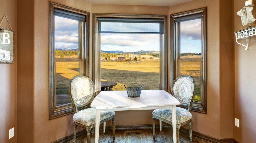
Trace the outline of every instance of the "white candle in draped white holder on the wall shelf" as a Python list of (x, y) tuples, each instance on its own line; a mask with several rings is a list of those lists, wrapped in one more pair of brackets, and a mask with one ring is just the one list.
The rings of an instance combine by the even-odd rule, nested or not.
[(251, 23), (256, 20), (251, 13), (253, 6), (252, 0), (245, 1), (245, 6), (237, 12), (237, 15), (241, 16), (242, 25), (245, 26), (248, 24), (247, 28), (250, 28)]

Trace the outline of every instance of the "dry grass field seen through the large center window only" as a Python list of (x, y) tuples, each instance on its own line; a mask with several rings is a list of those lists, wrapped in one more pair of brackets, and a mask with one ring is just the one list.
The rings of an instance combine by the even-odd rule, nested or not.
[(159, 59), (142, 59), (140, 62), (102, 61), (101, 81), (114, 81), (113, 90), (125, 87), (141, 87), (144, 90), (159, 89)]

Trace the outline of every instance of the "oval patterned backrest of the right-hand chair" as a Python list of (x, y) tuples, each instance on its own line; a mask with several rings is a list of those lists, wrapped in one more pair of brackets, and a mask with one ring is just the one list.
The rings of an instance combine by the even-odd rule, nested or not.
[(172, 83), (172, 95), (181, 105), (188, 105), (195, 95), (195, 81), (193, 77), (190, 75), (177, 77)]

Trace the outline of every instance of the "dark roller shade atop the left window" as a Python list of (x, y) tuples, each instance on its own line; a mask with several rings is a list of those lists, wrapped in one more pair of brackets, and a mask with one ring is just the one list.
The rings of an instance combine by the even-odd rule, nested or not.
[(84, 18), (86, 17), (85, 15), (82, 15), (82, 14), (78, 14), (78, 13), (74, 13), (74, 12), (70, 12), (70, 11), (66, 11), (58, 8), (54, 8), (53, 13), (56, 16), (60, 16), (60, 17), (64, 17), (64, 18), (68, 18), (68, 19), (72, 19), (80, 22), (84, 22)]

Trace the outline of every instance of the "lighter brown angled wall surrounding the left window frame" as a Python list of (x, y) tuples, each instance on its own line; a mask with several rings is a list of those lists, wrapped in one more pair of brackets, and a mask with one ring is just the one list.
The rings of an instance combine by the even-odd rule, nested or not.
[[(91, 11), (91, 4), (80, 0), (53, 0), (52, 2)], [(47, 143), (73, 134), (74, 123), (72, 114), (49, 120), (49, 0), (34, 1), (34, 9), (33, 142)], [(26, 136), (28, 135), (25, 133)]]

